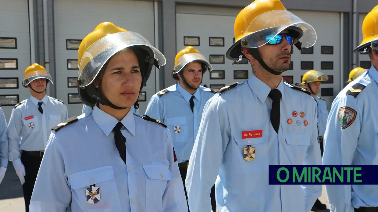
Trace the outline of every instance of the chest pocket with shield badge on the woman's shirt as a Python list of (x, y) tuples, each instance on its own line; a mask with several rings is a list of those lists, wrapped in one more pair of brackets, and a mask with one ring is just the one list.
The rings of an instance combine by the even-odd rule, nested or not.
[(122, 211), (112, 166), (77, 172), (70, 176), (72, 204), (82, 211), (110, 207)]

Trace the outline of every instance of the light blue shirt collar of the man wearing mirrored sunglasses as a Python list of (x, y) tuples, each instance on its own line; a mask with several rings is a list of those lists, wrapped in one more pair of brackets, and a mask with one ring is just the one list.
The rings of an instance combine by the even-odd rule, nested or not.
[[(257, 98), (262, 103), (265, 103), (266, 97), (268, 97), (271, 88), (267, 84), (265, 84), (263, 81), (261, 81), (259, 78), (257, 78), (254, 74), (251, 74), (251, 77), (247, 80), (249, 88), (256, 94)], [(283, 80), (281, 78), (280, 83), (278, 84), (277, 88), (281, 94), (282, 94), (282, 100), (283, 100)]]

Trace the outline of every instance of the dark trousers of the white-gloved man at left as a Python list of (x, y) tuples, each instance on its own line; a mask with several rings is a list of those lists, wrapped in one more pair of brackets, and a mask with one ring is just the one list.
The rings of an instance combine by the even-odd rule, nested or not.
[(33, 194), (34, 184), (36, 183), (39, 166), (41, 165), (43, 151), (22, 151), (21, 162), (25, 167), (25, 183), (22, 185), (25, 211), (29, 212), (31, 194)]

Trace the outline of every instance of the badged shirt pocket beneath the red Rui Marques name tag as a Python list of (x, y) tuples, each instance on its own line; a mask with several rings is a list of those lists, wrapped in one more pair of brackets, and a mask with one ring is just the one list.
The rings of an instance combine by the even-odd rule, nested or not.
[(237, 146), (234, 152), (240, 156), (235, 156), (235, 163), (243, 164), (243, 172), (265, 172), (268, 171), (268, 142), (266, 137), (242, 138), (242, 134), (234, 134)]

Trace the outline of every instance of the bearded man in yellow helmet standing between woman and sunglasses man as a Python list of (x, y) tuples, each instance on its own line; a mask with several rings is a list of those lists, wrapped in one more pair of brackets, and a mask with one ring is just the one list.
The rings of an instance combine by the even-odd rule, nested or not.
[[(212, 66), (197, 49), (192, 46), (182, 49), (176, 55), (172, 72), (172, 77), (179, 82), (153, 95), (146, 109), (146, 115), (167, 124), (183, 182), (203, 107), (215, 92), (200, 85), (207, 70), (212, 71)], [(211, 196), (215, 210), (215, 187)]]

